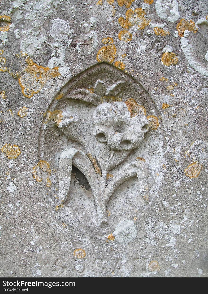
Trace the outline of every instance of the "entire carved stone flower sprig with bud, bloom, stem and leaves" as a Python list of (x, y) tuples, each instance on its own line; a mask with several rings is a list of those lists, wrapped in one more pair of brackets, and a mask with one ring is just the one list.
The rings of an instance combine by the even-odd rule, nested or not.
[[(127, 179), (137, 176), (142, 198), (148, 200), (147, 166), (144, 161), (134, 161), (123, 166), (119, 172), (114, 173), (114, 177), (110, 181), (107, 181), (108, 171), (118, 166), (133, 149), (141, 144), (144, 133), (149, 129), (149, 123), (143, 114), (145, 112), (140, 111), (141, 109), (134, 112), (134, 107), (130, 107), (132, 101), (99, 104), (99, 99), (103, 96), (118, 96), (124, 83), (118, 81), (113, 85), (106, 86), (103, 81), (97, 80), (94, 93), (88, 93), (90, 91), (85, 89), (70, 93), (70, 98), (97, 105), (93, 112), (94, 150), (90, 150), (89, 144), (82, 134), (78, 112), (74, 113), (70, 108), (67, 108), (62, 112), (63, 118), (58, 124), (58, 128), (66, 137), (80, 143), (85, 150), (82, 152), (70, 148), (61, 153), (58, 171), (58, 204), (61, 205), (66, 201), (70, 189), (71, 168), (74, 165), (83, 172), (92, 188), (100, 227), (105, 227), (108, 223), (106, 206), (110, 196)], [(136, 103), (135, 100), (133, 102)], [(136, 104), (136, 106), (138, 105)]]

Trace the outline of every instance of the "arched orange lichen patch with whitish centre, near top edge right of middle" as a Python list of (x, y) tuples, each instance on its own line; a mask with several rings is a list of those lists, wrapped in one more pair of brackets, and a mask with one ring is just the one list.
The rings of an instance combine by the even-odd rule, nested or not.
[(149, 25), (149, 21), (145, 19), (145, 11), (141, 8), (136, 8), (134, 11), (128, 9), (126, 11), (126, 19), (119, 17), (118, 23), (124, 28), (129, 29), (133, 25), (138, 26), (138, 30), (143, 30)]

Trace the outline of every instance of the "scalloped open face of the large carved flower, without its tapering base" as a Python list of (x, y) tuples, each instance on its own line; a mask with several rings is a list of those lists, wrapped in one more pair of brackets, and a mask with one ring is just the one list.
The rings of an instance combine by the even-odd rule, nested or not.
[(148, 131), (145, 116), (134, 116), (124, 102), (102, 103), (93, 113), (94, 135), (98, 142), (114, 150), (131, 150), (139, 146)]

